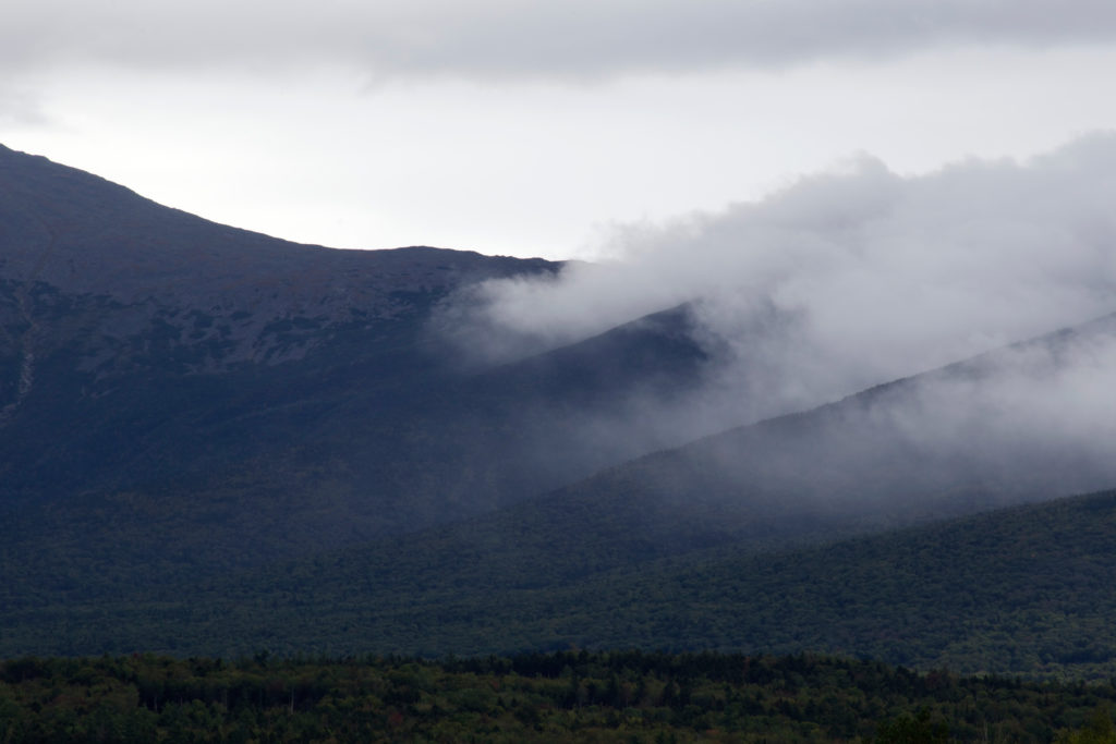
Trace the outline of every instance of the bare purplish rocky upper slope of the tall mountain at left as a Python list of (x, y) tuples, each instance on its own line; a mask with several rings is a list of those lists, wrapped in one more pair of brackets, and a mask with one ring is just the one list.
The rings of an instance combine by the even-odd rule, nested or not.
[(95, 381), (144, 364), (224, 371), (300, 359), (462, 284), (558, 268), (429, 248), (298, 245), (2, 146), (0, 245), (7, 345), (35, 357), (78, 340), (77, 369)]

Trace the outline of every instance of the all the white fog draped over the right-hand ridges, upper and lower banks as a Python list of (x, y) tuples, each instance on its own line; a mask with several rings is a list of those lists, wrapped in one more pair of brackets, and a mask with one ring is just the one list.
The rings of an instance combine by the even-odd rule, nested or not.
[[(860, 477), (1016, 497), (1105, 487), (1116, 322), (1083, 323), (1116, 311), (1114, 174), (1110, 134), (917, 177), (865, 155), (760, 202), (618, 228), (600, 262), (474, 287), (440, 328), (475, 370), (686, 303), (709, 356), (700, 381), (530, 414), (531, 431), (550, 421), (539, 450), (567, 462), (603, 466), (931, 371), (795, 442), (730, 438), (714, 461), (804, 494), (863, 492)], [(1087, 332), (1010, 346), (1071, 326)]]

